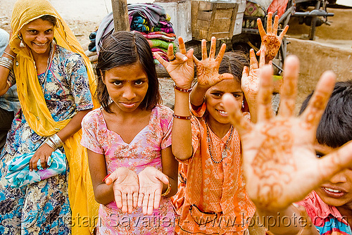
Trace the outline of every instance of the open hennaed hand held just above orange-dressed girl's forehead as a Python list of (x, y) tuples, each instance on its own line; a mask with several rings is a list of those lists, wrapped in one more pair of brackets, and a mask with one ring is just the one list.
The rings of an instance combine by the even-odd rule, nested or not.
[(211, 37), (209, 57), (206, 51), (206, 39), (201, 41), (201, 61), (194, 57), (196, 63), (197, 78), (199, 87), (210, 88), (225, 79), (233, 79), (230, 73), (219, 75), (219, 67), (224, 56), (226, 44), (222, 44), (218, 56), (215, 58), (216, 39)]

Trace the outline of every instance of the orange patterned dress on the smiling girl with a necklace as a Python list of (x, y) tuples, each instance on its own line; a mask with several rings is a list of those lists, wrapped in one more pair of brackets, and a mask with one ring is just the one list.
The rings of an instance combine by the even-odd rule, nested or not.
[[(202, 116), (205, 105), (199, 112)], [(206, 122), (191, 120), (194, 155), (179, 166), (179, 191), (172, 198), (177, 213), (177, 234), (244, 234), (256, 208), (246, 193), (241, 169), (241, 145), (236, 129), (220, 139)], [(221, 153), (227, 146), (227, 157)], [(230, 148), (229, 148), (230, 147)]]

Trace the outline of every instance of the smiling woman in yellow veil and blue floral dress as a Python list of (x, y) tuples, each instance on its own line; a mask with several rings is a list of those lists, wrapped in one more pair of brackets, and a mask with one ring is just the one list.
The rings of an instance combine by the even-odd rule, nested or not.
[[(11, 18), (10, 44), (0, 66), (0, 89), (13, 61), (21, 110), (15, 116), (0, 161), (2, 234), (90, 234), (94, 200), (87, 153), (80, 145), (80, 122), (95, 101), (94, 72), (73, 32), (46, 0), (18, 0)], [(90, 91), (89, 91), (90, 89)], [(63, 142), (63, 146), (61, 143)], [(56, 149), (65, 152), (66, 172), (11, 188), (6, 163), (34, 153), (30, 170), (43, 168)], [(72, 225), (72, 228), (71, 228)]]

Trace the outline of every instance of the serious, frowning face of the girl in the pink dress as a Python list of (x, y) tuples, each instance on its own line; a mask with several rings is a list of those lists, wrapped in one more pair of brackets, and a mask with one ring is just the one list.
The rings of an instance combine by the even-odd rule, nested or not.
[(148, 91), (148, 77), (140, 63), (123, 65), (106, 70), (104, 84), (108, 89), (113, 103), (113, 112), (127, 112), (142, 110), (139, 107)]

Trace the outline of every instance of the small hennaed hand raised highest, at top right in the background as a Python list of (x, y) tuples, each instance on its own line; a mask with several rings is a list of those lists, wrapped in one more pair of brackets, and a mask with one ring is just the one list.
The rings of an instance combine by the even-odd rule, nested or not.
[(258, 30), (262, 42), (260, 44), (260, 49), (257, 51), (257, 56), (263, 51), (265, 53), (265, 63), (269, 63), (275, 58), (277, 51), (279, 51), (282, 38), (286, 34), (287, 30), (289, 30), (289, 25), (284, 27), (284, 30), (277, 36), (277, 28), (279, 27), (279, 15), (275, 15), (274, 25), (272, 25), (272, 12), (268, 13), (268, 23), (267, 23), (267, 32), (265, 32), (263, 23), (258, 18)]

